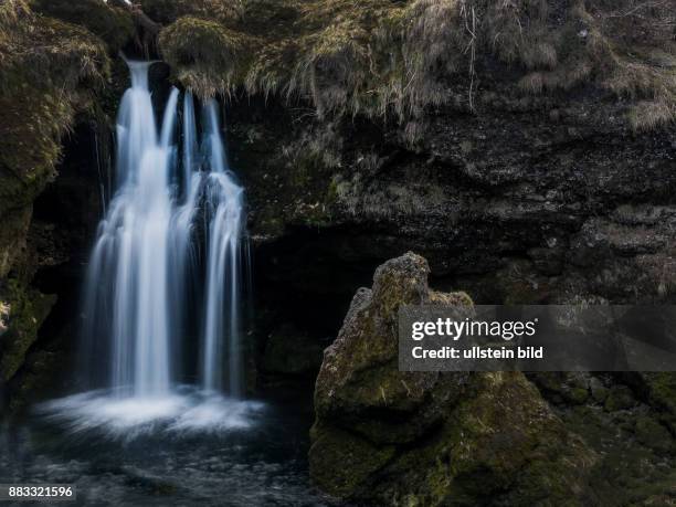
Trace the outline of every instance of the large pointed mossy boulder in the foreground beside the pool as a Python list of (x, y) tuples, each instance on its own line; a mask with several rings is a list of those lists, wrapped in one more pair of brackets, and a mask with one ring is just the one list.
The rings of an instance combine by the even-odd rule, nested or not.
[(398, 370), (400, 305), (433, 303), (460, 315), (472, 307), (463, 293), (430, 291), (429, 272), (408, 253), (356, 294), (317, 378), (313, 480), (377, 505), (589, 501), (595, 454), (521, 373)]

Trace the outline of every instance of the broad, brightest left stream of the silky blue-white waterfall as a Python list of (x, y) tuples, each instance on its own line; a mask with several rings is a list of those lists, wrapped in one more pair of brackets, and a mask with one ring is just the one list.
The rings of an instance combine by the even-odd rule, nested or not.
[(86, 282), (86, 338), (109, 337), (109, 387), (120, 397), (169, 392), (169, 141), (178, 91), (171, 92), (158, 136), (149, 65), (129, 63), (131, 87), (117, 123), (119, 189), (99, 225)]

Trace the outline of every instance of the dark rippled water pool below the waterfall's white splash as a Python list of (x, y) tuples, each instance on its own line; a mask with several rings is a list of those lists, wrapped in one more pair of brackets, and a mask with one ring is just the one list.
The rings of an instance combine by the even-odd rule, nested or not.
[(57, 409), (3, 422), (0, 483), (75, 484), (76, 501), (59, 505), (336, 505), (308, 478), (311, 414), (302, 400), (263, 400), (246, 424), (186, 431), (165, 422), (112, 432), (110, 422), (83, 425), (76, 405)]

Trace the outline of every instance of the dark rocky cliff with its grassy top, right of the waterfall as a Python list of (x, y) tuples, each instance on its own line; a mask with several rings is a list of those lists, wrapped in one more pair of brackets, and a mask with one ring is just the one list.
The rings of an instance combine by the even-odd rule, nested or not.
[(261, 242), (318, 231), (369, 270), (415, 249), (477, 300), (672, 296), (666, 3), (142, 6), (175, 80), (230, 98)]

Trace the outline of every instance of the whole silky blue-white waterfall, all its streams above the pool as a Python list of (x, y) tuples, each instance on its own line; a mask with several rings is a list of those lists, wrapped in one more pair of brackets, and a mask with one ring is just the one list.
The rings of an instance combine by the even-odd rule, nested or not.
[[(151, 63), (128, 65), (131, 87), (117, 119), (117, 191), (86, 275), (85, 362), (101, 371), (96, 366), (109, 358), (105, 378), (92, 377), (118, 398), (162, 398), (186, 380), (181, 350), (199, 348), (193, 370), (201, 387), (241, 397), (244, 190), (228, 165), (218, 105), (203, 107), (200, 142), (193, 97), (183, 95), (177, 122), (173, 88), (158, 131)], [(200, 277), (203, 296), (191, 298)], [(189, 342), (198, 336), (199, 345)]]

